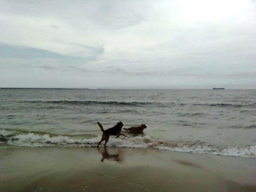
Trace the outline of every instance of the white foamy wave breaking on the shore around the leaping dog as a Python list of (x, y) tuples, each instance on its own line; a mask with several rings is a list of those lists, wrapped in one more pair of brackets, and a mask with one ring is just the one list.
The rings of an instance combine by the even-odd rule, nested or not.
[[(101, 136), (51, 135), (46, 133), (17, 133), (0, 130), (0, 141), (22, 147), (95, 147)], [(165, 141), (148, 136), (111, 138), (108, 147), (154, 148), (179, 152), (208, 153), (213, 155), (256, 158), (256, 145), (246, 147), (213, 146), (203, 142)]]

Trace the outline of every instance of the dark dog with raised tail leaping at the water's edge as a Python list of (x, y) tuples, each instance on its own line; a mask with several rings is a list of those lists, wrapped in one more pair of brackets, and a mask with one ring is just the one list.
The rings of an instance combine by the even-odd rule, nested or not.
[[(118, 122), (114, 127), (111, 127), (107, 130), (104, 130), (102, 125), (97, 122), (97, 124), (100, 126), (100, 129), (102, 130), (103, 134), (102, 134), (102, 138), (101, 138), (101, 141), (98, 143), (97, 147), (99, 147), (100, 143), (102, 141), (105, 140), (105, 144), (104, 146), (106, 146), (107, 142), (108, 142), (108, 139), (109, 139), (109, 136), (112, 135), (112, 136), (116, 136), (116, 138), (118, 138), (119, 136), (125, 136), (124, 134), (121, 133), (121, 130), (122, 130), (122, 126), (124, 124), (122, 124), (122, 122)], [(126, 136), (125, 136), (126, 137)]]

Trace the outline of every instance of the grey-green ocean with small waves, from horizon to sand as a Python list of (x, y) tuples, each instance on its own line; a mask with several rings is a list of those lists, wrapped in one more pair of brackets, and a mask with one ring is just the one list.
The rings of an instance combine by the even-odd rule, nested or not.
[(0, 89), (0, 148), (93, 147), (122, 121), (147, 128), (108, 147), (256, 158), (255, 115), (255, 90)]

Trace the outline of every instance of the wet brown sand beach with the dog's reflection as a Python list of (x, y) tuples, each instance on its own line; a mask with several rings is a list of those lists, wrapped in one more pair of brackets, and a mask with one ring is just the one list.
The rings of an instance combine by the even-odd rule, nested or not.
[(131, 148), (0, 148), (0, 191), (256, 191), (256, 159)]

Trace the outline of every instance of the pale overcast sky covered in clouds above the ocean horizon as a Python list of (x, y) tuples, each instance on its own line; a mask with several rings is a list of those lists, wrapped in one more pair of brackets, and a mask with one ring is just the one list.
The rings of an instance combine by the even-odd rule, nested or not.
[(255, 0), (0, 0), (0, 87), (255, 88)]

